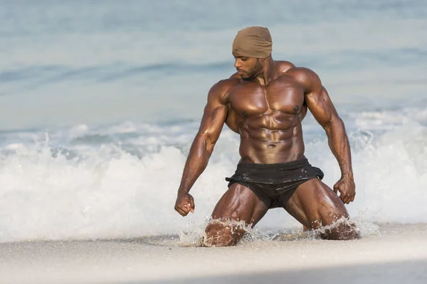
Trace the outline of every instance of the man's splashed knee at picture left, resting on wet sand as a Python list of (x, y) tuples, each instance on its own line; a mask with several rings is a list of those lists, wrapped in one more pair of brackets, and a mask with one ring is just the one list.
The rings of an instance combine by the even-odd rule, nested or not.
[(234, 246), (241, 239), (242, 232), (231, 225), (209, 224), (206, 226), (205, 246)]

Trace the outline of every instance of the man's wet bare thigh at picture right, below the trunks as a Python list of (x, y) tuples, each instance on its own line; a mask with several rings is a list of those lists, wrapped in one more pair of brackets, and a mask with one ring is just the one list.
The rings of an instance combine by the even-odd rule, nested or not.
[(298, 186), (285, 209), (310, 229), (349, 217), (339, 196), (318, 178), (312, 178)]

